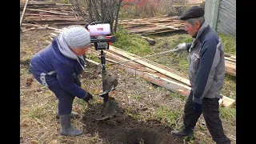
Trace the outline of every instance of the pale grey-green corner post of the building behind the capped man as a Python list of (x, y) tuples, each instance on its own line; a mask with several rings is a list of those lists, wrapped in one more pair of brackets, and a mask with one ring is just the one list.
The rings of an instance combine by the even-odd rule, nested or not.
[(205, 4), (206, 22), (216, 30), (218, 20), (219, 0), (207, 0)]

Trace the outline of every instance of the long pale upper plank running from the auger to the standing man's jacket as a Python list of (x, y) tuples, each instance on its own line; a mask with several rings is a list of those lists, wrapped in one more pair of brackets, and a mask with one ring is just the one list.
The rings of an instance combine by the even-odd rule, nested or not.
[[(116, 48), (114, 46), (110, 46), (110, 50), (114, 50), (115, 52), (117, 52), (118, 54), (122, 54), (126, 58), (134, 59), (134, 57), (130, 56), (129, 54), (124, 53), (122, 50), (119, 50), (118, 48)], [(190, 86), (190, 81), (188, 79), (186, 79), (186, 78), (182, 78), (182, 77), (180, 77), (180, 76), (178, 76), (176, 74), (172, 74), (169, 71), (163, 70), (163, 69), (159, 68), (158, 66), (151, 65), (151, 64), (149, 64), (147, 62), (144, 62), (142, 60), (135, 60), (135, 62), (138, 62), (138, 63), (140, 63), (140, 64), (142, 64), (144, 66), (150, 67), (153, 70), (156, 70), (156, 71), (158, 71), (158, 72), (160, 72), (162, 74), (165, 74), (165, 75), (169, 76), (170, 78), (174, 78), (174, 79), (176, 79), (176, 80), (178, 80), (180, 82), (183, 82), (186, 85)]]

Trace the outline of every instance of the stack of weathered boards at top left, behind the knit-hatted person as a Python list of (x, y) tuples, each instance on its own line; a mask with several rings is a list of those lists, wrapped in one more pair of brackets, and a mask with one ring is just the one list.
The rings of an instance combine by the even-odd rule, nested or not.
[[(26, 9), (26, 10), (24, 10)], [(54, 29), (70, 25), (86, 25), (71, 4), (54, 2), (20, 2), (22, 29)]]

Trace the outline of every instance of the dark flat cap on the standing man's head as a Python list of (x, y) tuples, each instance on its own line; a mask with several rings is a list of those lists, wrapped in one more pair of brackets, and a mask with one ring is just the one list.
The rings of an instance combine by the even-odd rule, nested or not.
[(192, 6), (186, 10), (180, 17), (180, 20), (187, 20), (190, 18), (200, 18), (205, 14), (202, 6)]

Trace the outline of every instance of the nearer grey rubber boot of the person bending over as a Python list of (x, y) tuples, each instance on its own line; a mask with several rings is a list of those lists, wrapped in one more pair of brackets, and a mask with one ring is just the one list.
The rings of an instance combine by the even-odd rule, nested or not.
[(70, 125), (70, 114), (60, 115), (61, 122), (61, 134), (67, 136), (78, 136), (83, 133), (82, 130), (78, 130)]

